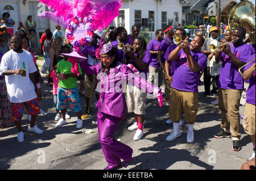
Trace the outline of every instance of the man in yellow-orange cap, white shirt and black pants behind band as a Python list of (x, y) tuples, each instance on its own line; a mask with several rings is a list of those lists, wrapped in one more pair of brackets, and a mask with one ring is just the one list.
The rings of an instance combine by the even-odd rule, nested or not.
[[(210, 69), (215, 64), (215, 56), (214, 55), (216, 53), (211, 53), (210, 52), (209, 45), (213, 44), (213, 45), (217, 46), (217, 45), (220, 44), (220, 42), (217, 41), (218, 33), (219, 33), (219, 30), (218, 30), (217, 27), (210, 28), (211, 37), (205, 39), (204, 45), (201, 49), (202, 53), (204, 53), (208, 57), (207, 68), (204, 69), (204, 90), (205, 90), (205, 93), (203, 94), (204, 96), (209, 96), (209, 95), (217, 96), (218, 76), (214, 76), (214, 77), (210, 76), (210, 71), (211, 71)], [(213, 84), (213, 89), (212, 90), (210, 90), (210, 79), (211, 78), (212, 78), (212, 84)]]

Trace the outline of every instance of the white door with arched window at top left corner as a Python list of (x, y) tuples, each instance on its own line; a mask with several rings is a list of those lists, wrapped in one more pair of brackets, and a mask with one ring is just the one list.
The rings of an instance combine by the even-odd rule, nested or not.
[[(19, 26), (19, 10), (18, 10), (18, 3), (15, 2), (8, 2), (4, 1), (0, 3), (0, 12), (1, 12), (1, 18), (3, 13), (8, 12), (10, 14), (10, 18), (15, 21), (14, 24), (14, 33), (17, 30)], [(26, 22), (22, 22), (23, 24)]]

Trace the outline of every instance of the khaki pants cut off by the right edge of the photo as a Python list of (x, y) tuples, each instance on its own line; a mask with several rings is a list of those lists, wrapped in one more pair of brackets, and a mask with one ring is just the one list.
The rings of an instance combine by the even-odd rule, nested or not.
[(243, 129), (249, 135), (255, 135), (255, 105), (245, 104), (245, 114), (243, 115)]

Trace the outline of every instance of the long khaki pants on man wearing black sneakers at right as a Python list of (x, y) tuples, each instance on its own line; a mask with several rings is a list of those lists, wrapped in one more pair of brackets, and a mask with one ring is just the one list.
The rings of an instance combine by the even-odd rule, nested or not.
[(221, 128), (230, 132), (232, 140), (240, 140), (240, 90), (218, 88), (218, 108), (221, 110)]

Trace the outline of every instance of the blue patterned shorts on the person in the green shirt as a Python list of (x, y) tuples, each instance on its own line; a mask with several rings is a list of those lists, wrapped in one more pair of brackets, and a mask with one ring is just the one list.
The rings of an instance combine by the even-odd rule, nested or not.
[(81, 104), (79, 99), (79, 92), (76, 88), (73, 89), (64, 89), (58, 87), (58, 96), (57, 96), (57, 109), (65, 110), (69, 104), (69, 108), (73, 112), (81, 111)]

